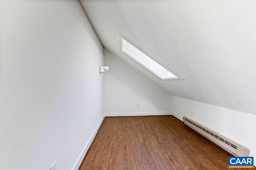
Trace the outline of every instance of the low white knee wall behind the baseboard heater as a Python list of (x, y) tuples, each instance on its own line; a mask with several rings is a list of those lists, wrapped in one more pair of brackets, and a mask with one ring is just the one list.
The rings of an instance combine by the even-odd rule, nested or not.
[[(256, 165), (256, 115), (177, 96), (172, 96), (172, 109), (177, 118), (182, 120), (183, 116), (189, 117), (247, 147), (250, 155), (254, 156), (254, 166)], [(192, 111), (194, 116), (191, 115)]]

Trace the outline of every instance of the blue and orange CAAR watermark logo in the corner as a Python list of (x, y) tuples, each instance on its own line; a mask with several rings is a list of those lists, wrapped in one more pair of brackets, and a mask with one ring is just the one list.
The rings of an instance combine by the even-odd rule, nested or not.
[(228, 168), (253, 168), (253, 157), (228, 157)]

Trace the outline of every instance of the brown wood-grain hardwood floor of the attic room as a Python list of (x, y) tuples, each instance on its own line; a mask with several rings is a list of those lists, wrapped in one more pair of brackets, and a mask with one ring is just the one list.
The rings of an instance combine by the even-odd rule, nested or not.
[(80, 170), (221, 170), (228, 156), (173, 116), (106, 117)]

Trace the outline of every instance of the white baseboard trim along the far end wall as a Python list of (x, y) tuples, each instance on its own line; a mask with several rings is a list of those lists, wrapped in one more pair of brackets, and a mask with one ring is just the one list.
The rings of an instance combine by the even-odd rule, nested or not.
[(172, 115), (172, 112), (105, 113), (106, 117), (116, 117), (116, 116), (155, 116), (155, 115)]

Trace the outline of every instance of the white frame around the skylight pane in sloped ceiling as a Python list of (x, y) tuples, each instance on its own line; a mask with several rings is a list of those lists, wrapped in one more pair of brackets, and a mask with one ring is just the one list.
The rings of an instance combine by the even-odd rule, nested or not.
[[(153, 70), (151, 70), (150, 68), (148, 68), (147, 66), (145, 66), (143, 63), (141, 63), (140, 61), (136, 60), (134, 57), (132, 57), (131, 55), (129, 55), (128, 53), (126, 53), (125, 51), (123, 51), (123, 41), (122, 39), (124, 39), (126, 42), (128, 42), (130, 45), (132, 45), (133, 47), (135, 47), (136, 49), (138, 49), (138, 51), (144, 53), (144, 55), (146, 55), (147, 57), (149, 57), (152, 61), (156, 62), (157, 64), (159, 64), (160, 66), (162, 66), (164, 69), (168, 70), (171, 74), (173, 74), (176, 77), (172, 77), (172, 78), (162, 78), (161, 76), (159, 76), (158, 74), (156, 74)], [(160, 78), (161, 80), (164, 81), (170, 81), (170, 80), (183, 80), (184, 78), (180, 77), (178, 74), (176, 74), (174, 71), (172, 71), (170, 68), (168, 68), (165, 64), (161, 63), (160, 61), (156, 60), (154, 57), (152, 57), (152, 55), (149, 55), (148, 53), (146, 53), (146, 51), (142, 50), (140, 47), (138, 47), (137, 45), (135, 45), (134, 43), (132, 43), (130, 40), (128, 40), (126, 37), (124, 37), (123, 35), (121, 35), (119, 33), (119, 42), (120, 42), (120, 50), (125, 53), (126, 55), (128, 55), (129, 57), (131, 57), (132, 59), (134, 59), (136, 62), (140, 63), (142, 66), (144, 66), (145, 68), (147, 68), (150, 72), (152, 72), (154, 75), (156, 75), (158, 78)]]

